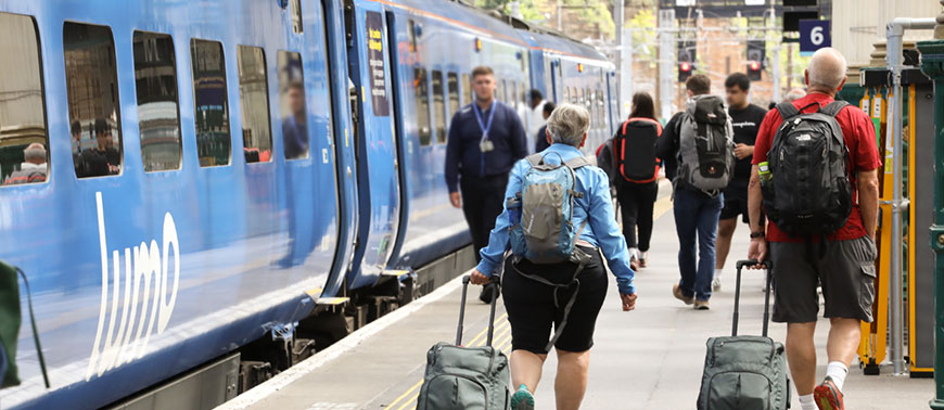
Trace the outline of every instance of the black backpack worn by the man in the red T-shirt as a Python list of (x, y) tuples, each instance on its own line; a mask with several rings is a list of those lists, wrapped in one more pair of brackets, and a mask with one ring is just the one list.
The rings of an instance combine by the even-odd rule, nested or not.
[(767, 217), (788, 234), (826, 235), (849, 220), (850, 156), (835, 120), (846, 105), (834, 101), (811, 114), (789, 102), (777, 105), (783, 124), (767, 152), (773, 179), (762, 184), (763, 204)]

